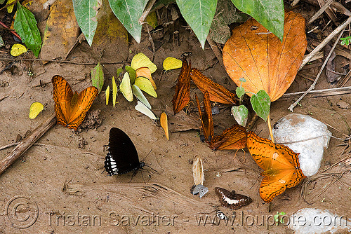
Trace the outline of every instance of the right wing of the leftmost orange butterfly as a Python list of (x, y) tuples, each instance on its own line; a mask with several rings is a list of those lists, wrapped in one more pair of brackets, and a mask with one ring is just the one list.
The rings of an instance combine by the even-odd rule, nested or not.
[(84, 121), (86, 112), (91, 108), (91, 105), (93, 104), (95, 97), (98, 96), (98, 93), (98, 88), (91, 86), (81, 91), (79, 95), (77, 95), (77, 101), (74, 103), (71, 102), (72, 111), (69, 112), (67, 128), (74, 128), (74, 130), (77, 130), (81, 122)]

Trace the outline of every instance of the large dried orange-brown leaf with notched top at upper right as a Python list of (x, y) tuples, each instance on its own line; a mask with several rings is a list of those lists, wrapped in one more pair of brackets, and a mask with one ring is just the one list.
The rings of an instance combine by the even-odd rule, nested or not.
[(265, 90), (274, 101), (293, 83), (306, 47), (305, 20), (291, 11), (285, 14), (282, 42), (253, 19), (233, 29), (223, 48), (223, 62), (237, 85), (244, 77), (246, 91)]

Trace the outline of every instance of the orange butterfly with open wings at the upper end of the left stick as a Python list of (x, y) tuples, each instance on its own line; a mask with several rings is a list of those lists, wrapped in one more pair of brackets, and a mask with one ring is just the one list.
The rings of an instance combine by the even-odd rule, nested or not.
[(79, 92), (72, 90), (69, 83), (62, 76), (53, 76), (53, 100), (55, 101), (55, 113), (58, 123), (67, 128), (77, 130), (86, 117), (98, 96), (98, 88), (91, 86)]

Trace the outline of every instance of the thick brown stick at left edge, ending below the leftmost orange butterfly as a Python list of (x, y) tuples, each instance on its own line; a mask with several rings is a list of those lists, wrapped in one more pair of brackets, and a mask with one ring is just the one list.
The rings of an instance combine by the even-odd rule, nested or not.
[(52, 128), (56, 124), (56, 116), (53, 115), (50, 118), (48, 118), (44, 123), (41, 123), (33, 132), (31, 135), (26, 137), (25, 139), (18, 144), (15, 149), (11, 153), (8, 153), (8, 155), (1, 160), (0, 162), (0, 174), (2, 174), (8, 167), (11, 166), (15, 160), (20, 158), (27, 149), (32, 146), (37, 140), (45, 134), (50, 128)]

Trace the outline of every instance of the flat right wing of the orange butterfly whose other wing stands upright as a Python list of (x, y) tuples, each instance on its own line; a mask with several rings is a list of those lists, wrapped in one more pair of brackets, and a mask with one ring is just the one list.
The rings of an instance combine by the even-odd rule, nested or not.
[(247, 132), (241, 125), (232, 125), (223, 131), (221, 135), (213, 137), (208, 144), (213, 150), (216, 149), (243, 149), (246, 147)]

